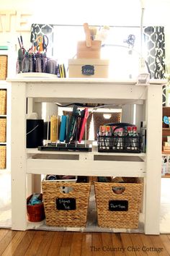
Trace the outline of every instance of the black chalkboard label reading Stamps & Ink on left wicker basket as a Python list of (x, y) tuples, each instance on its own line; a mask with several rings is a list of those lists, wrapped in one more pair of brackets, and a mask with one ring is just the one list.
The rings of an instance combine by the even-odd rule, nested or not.
[(56, 198), (56, 208), (58, 210), (76, 210), (76, 198)]

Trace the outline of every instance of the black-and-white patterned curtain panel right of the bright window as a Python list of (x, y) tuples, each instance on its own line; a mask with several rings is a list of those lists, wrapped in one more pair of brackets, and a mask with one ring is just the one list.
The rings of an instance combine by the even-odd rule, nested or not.
[[(144, 38), (147, 46), (148, 67), (151, 78), (164, 79), (165, 35), (164, 27), (146, 27)], [(163, 87), (163, 106), (166, 105), (166, 86)]]

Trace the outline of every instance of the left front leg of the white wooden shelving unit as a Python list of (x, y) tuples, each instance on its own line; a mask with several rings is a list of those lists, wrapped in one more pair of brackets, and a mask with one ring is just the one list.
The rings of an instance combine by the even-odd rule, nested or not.
[(24, 83), (12, 84), (12, 229), (23, 231), (27, 229), (25, 93)]

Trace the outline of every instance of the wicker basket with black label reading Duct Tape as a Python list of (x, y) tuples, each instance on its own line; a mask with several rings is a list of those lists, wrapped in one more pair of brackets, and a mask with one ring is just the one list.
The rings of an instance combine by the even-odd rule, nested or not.
[(143, 184), (95, 182), (97, 219), (100, 227), (138, 229)]

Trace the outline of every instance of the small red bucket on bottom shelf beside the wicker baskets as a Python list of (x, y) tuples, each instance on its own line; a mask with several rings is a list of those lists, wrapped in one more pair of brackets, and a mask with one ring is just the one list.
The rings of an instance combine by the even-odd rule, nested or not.
[[(27, 219), (31, 222), (39, 222), (45, 219), (45, 211), (43, 202), (37, 205), (28, 205), (32, 195), (27, 197)], [(42, 194), (40, 194), (40, 200), (42, 200)]]

